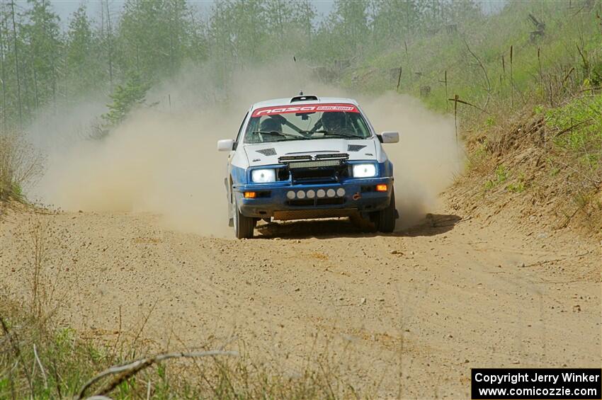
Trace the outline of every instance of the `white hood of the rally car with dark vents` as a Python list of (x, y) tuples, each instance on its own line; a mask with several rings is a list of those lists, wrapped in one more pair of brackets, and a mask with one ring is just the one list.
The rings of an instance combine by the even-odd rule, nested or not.
[(303, 154), (349, 154), (350, 160), (376, 159), (374, 139), (313, 139), (244, 144), (249, 166), (278, 164), (278, 157)]

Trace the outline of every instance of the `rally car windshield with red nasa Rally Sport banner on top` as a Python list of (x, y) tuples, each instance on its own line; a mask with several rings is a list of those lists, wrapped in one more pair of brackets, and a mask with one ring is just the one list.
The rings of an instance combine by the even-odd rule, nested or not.
[(370, 135), (368, 123), (353, 104), (293, 104), (254, 110), (244, 142), (366, 139)]

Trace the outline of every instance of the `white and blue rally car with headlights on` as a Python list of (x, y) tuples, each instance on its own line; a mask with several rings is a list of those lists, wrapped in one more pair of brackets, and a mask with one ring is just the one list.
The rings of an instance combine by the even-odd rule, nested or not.
[(230, 226), (251, 238), (264, 219), (353, 217), (392, 232), (397, 210), (393, 166), (377, 135), (350, 98), (300, 96), (256, 103), (236, 139), (217, 142), (229, 152), (225, 185)]

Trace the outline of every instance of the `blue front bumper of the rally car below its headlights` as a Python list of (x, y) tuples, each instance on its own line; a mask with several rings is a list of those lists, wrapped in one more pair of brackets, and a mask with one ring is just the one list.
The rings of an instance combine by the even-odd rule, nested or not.
[[(377, 185), (387, 185), (387, 191), (377, 191)], [(373, 212), (388, 207), (391, 200), (393, 179), (386, 178), (347, 178), (341, 183), (324, 184), (291, 184), (276, 182), (268, 184), (254, 183), (250, 185), (237, 185), (233, 188), (237, 197), (239, 210), (246, 217), (276, 219), (302, 219), (341, 217), (351, 215), (353, 212)], [(319, 197), (319, 190), (329, 193), (333, 189), (337, 193), (344, 190), (344, 195)], [(295, 198), (287, 196), (293, 191)], [(297, 193), (303, 192), (305, 196), (299, 198)], [(313, 191), (314, 197), (309, 198)], [(245, 192), (256, 193), (256, 198), (244, 198)], [(332, 194), (332, 192), (330, 192)], [(339, 190), (339, 194), (342, 193)]]

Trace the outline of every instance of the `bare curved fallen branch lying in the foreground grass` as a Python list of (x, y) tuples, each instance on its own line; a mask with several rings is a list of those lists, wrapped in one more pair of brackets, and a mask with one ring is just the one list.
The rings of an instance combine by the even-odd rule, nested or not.
[(209, 357), (209, 356), (214, 356), (214, 355), (237, 356), (238, 353), (236, 351), (209, 350), (209, 351), (200, 351), (200, 352), (193, 352), (193, 353), (181, 353), (181, 352), (163, 353), (163, 354), (154, 355), (154, 356), (148, 357), (148, 358), (140, 358), (139, 360), (129, 362), (125, 365), (116, 365), (114, 367), (108, 368), (107, 370), (104, 370), (103, 372), (96, 375), (95, 377), (90, 379), (88, 382), (86, 382), (86, 384), (84, 384), (84, 386), (81, 387), (81, 389), (79, 390), (79, 394), (77, 394), (77, 396), (74, 396), (74, 399), (76, 399), (76, 400), (83, 399), (84, 393), (86, 392), (86, 390), (89, 387), (91, 387), (93, 384), (98, 382), (100, 379), (103, 379), (103, 377), (107, 377), (109, 375), (117, 375), (117, 376), (114, 377), (110, 382), (108, 382), (108, 384), (106, 384), (104, 387), (101, 387), (101, 389), (98, 389), (98, 391), (96, 392), (96, 394), (94, 394), (94, 396), (104, 396), (104, 395), (108, 394), (110, 391), (115, 389), (115, 387), (117, 387), (125, 379), (129, 379), (133, 375), (136, 375), (138, 372), (146, 369), (147, 367), (150, 367), (151, 365), (153, 365), (157, 362), (169, 360), (170, 358), (196, 358), (196, 357)]

